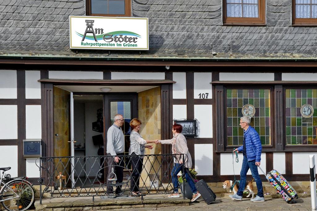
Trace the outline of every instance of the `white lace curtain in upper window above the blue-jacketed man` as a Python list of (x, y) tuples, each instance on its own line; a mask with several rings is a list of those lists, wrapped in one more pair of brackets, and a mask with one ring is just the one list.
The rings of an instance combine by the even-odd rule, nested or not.
[(258, 8), (258, 0), (227, 0), (227, 17), (257, 18)]

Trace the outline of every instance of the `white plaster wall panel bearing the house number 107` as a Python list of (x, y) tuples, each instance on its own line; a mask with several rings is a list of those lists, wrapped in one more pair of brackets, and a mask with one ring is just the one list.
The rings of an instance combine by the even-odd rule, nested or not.
[[(194, 98), (199, 99), (199, 94), (205, 94), (205, 99), (212, 98), (211, 88), (211, 72), (195, 72), (194, 73)], [(206, 95), (208, 94), (208, 96)]]

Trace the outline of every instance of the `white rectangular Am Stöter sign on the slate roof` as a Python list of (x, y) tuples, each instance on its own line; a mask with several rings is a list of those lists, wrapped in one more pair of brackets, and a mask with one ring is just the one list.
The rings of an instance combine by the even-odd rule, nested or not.
[(149, 50), (148, 18), (69, 16), (71, 49)]

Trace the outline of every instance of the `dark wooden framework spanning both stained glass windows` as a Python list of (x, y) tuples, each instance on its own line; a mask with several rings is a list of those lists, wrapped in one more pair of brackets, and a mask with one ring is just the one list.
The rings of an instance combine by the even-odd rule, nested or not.
[[(272, 146), (263, 146), (262, 152), (314, 152), (317, 145), (287, 145), (286, 143), (286, 89), (315, 89), (311, 81), (214, 81), (216, 152), (232, 152), (235, 146), (227, 146), (226, 89), (270, 88), (271, 89), (271, 141)], [(282, 115), (281, 115), (282, 114)]]

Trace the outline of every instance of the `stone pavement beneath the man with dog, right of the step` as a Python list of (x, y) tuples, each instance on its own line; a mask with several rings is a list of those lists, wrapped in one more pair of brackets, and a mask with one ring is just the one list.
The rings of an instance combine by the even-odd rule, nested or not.
[(221, 210), (221, 211), (234, 211), (234, 210), (312, 210), (310, 197), (299, 198), (296, 200), (296, 204), (288, 204), (281, 198), (268, 198), (265, 202), (251, 202), (249, 199), (243, 198), (243, 201), (231, 200), (228, 198), (216, 199), (215, 202), (208, 205), (202, 200), (198, 200), (197, 203), (191, 203), (190, 206), (173, 206), (165, 208), (127, 208), (117, 209), (124, 211), (205, 211), (205, 210)]

